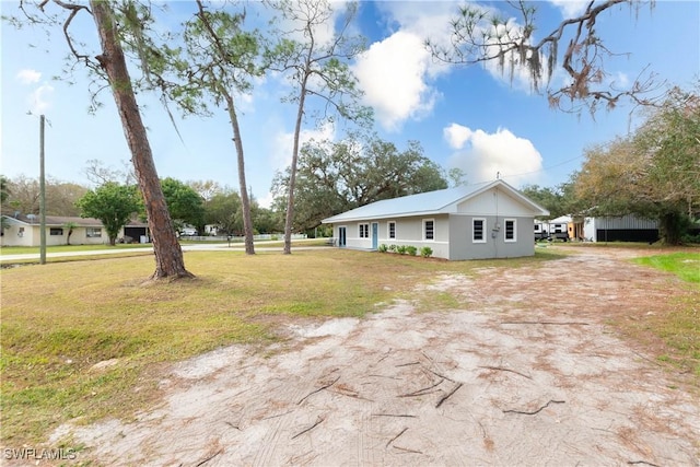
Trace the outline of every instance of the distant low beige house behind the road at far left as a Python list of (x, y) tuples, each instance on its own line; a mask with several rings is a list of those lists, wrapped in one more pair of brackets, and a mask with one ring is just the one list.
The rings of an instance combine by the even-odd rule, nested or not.
[[(0, 244), (2, 246), (39, 246), (40, 220), (34, 214), (2, 215)], [(71, 245), (101, 245), (109, 243), (102, 221), (93, 218), (75, 218), (62, 215), (46, 217), (46, 245), (66, 245), (69, 241), (69, 225), (73, 225), (70, 234)], [(136, 242), (148, 241), (148, 225), (144, 222), (131, 221), (124, 226), (117, 238), (129, 236)]]

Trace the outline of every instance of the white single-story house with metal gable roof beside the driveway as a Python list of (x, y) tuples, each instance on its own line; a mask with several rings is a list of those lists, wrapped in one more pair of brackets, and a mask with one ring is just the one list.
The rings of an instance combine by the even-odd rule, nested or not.
[(324, 219), (339, 247), (424, 246), (452, 260), (535, 254), (535, 217), (549, 212), (503, 180), (376, 201)]

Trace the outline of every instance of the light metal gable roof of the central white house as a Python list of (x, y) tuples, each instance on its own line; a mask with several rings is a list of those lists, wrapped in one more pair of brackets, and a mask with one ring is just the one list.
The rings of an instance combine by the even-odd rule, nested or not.
[(427, 191), (418, 195), (402, 196), (372, 202), (350, 211), (324, 219), (325, 224), (358, 221), (365, 219), (401, 218), (409, 215), (439, 214), (456, 211), (456, 206), (495, 186), (503, 187), (521, 199), (524, 205), (537, 212), (537, 215), (547, 215), (549, 212), (536, 205), (515, 188), (501, 179), (481, 184), (464, 185), (456, 188), (446, 188), (435, 191)]

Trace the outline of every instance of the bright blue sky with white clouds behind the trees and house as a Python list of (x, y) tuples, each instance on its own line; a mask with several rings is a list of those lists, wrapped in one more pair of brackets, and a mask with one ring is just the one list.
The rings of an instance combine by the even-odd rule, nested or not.
[[(173, 4), (180, 14), (192, 9), (188, 2)], [(586, 113), (552, 110), (546, 97), (533, 93), (517, 77), (511, 83), (492, 67), (436, 63), (422, 42), (427, 36), (445, 37), (447, 21), (458, 4), (360, 2), (353, 27), (366, 38), (368, 50), (352, 68), (365, 93), (364, 104), (374, 108), (374, 129), (381, 138), (394, 141), (400, 150), (409, 140), (418, 140), (427, 156), (446, 170), (462, 168), (469, 183), (490, 180), (500, 173), (516, 187), (553, 187), (580, 168), (586, 147), (625, 135), (630, 124), (633, 128), (639, 121), (630, 116), (629, 105), (602, 109), (595, 119)], [(575, 0), (536, 2), (540, 27), (535, 37), (550, 32), (583, 4)], [(503, 8), (504, 3), (488, 5)], [(16, 7), (16, 2), (0, 2), (2, 14)], [(700, 75), (700, 2), (656, 1), (653, 9), (644, 7), (639, 12), (616, 7), (596, 24), (608, 48), (629, 52), (607, 61), (607, 80), (633, 80), (649, 67), (658, 80), (689, 87)], [(86, 34), (89, 47), (96, 49), (93, 24), (82, 21), (77, 27)], [(130, 155), (112, 96), (103, 92), (104, 107), (89, 115), (86, 73), (77, 68), (70, 79), (52, 79), (61, 74), (68, 52), (60, 31), (47, 40), (39, 27), (15, 31), (3, 23), (1, 28), (0, 173), (38, 176), (38, 114), (45, 114), (50, 124), (46, 130), (49, 176), (89, 185), (84, 175), (88, 160), (97, 159), (114, 168), (128, 163)], [(561, 80), (561, 70), (553, 80), (555, 84)], [(247, 182), (264, 206), (270, 200), (275, 172), (287, 167), (291, 157), (295, 109), (280, 102), (287, 91), (283, 80), (268, 75), (250, 94), (238, 96)], [(180, 141), (158, 100), (149, 95), (139, 100), (161, 177), (211, 179), (237, 188), (231, 128), (223, 109), (211, 118), (177, 118)], [(339, 126), (316, 128), (310, 121), (302, 137), (337, 140), (343, 133)]]

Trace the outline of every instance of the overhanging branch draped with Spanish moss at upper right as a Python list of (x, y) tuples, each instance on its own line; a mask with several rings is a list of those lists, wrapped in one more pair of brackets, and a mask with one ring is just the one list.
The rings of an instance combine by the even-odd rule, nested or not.
[[(639, 10), (653, 1), (643, 0), (591, 0), (584, 10), (564, 19), (548, 34), (540, 32), (537, 3), (533, 1), (499, 2), (498, 8), (476, 2), (465, 2), (451, 19), (451, 40), (442, 44), (427, 39), (433, 57), (450, 63), (475, 65), (494, 62), (502, 73), (514, 75), (524, 71), (536, 91), (547, 87), (552, 107), (568, 112), (588, 108), (593, 114), (603, 104), (614, 108), (622, 100), (650, 105), (661, 89), (654, 75), (640, 70), (629, 85), (606, 80), (610, 74), (608, 60), (618, 55), (610, 50), (598, 35), (596, 21), (616, 5)], [(550, 86), (557, 65), (561, 63), (567, 80), (557, 87)]]

